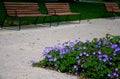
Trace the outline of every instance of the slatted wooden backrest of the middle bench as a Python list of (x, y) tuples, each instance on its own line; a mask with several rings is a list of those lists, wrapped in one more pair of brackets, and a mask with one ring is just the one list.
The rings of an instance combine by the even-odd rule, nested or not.
[(45, 3), (48, 14), (71, 12), (69, 3)]

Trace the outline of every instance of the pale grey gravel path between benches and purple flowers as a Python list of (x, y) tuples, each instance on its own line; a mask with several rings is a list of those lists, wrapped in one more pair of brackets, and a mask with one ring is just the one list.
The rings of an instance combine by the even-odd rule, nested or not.
[(60, 23), (58, 27), (51, 28), (23, 26), (21, 31), (0, 28), (0, 79), (77, 79), (65, 73), (32, 67), (30, 62), (42, 60), (43, 49), (58, 42), (78, 38), (91, 40), (104, 37), (106, 33), (120, 35), (120, 18), (76, 23)]

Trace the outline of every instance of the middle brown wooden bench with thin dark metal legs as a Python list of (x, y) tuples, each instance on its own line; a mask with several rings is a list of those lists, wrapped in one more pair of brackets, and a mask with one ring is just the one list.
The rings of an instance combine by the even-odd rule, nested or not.
[[(51, 16), (62, 16), (66, 15), (66, 21), (68, 20), (69, 15), (79, 15), (79, 23), (81, 14), (80, 13), (74, 13), (70, 10), (69, 3), (45, 3), (47, 14)], [(59, 24), (59, 18), (57, 20), (57, 25)]]

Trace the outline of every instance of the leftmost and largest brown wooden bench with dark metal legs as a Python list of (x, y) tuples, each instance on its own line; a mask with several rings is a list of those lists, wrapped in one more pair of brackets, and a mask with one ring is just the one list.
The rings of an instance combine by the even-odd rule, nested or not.
[(1, 28), (4, 25), (6, 17), (18, 18), (19, 30), (21, 29), (21, 17), (36, 17), (34, 24), (38, 20), (39, 16), (48, 16), (40, 13), (39, 6), (37, 3), (31, 2), (4, 2), (4, 9), (6, 16), (2, 22)]

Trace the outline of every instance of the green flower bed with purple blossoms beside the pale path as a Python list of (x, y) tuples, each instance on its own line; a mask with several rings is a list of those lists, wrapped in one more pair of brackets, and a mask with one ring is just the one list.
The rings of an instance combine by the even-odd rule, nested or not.
[(91, 79), (120, 78), (120, 36), (106, 34), (92, 41), (75, 40), (46, 47), (42, 61), (33, 66), (52, 68)]

